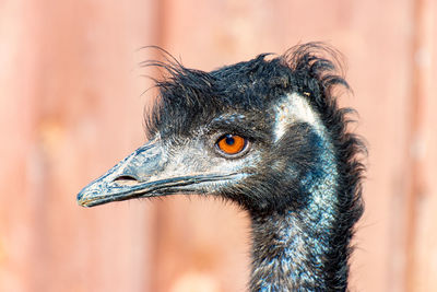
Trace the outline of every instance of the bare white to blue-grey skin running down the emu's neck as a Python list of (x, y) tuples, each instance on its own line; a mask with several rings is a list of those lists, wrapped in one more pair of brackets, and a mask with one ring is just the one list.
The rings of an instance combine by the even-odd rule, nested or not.
[[(338, 170), (333, 147), (326, 135), (324, 127), (317, 115), (308, 110), (308, 105), (303, 101), (296, 94), (287, 96), (285, 104), (290, 110), (287, 110), (287, 120), (283, 122), (311, 122), (317, 133), (312, 145), (318, 149), (317, 167), (314, 172), (308, 172), (302, 180), (304, 191), (311, 194), (312, 199), (308, 207), (299, 212), (290, 210), (285, 220), (282, 214), (277, 214), (276, 219), (274, 219), (275, 215), (270, 215), (268, 222), (253, 221), (253, 230), (261, 230), (259, 234), (255, 233), (255, 242), (259, 241), (259, 245), (262, 245), (268, 230), (270, 234), (275, 234), (274, 240), (269, 244), (270, 248), (281, 249), (279, 253), (273, 253), (275, 255), (273, 257), (269, 256), (272, 250), (265, 253), (267, 255), (261, 253), (255, 256), (255, 266), (265, 267), (262, 270), (256, 269), (252, 275), (259, 281), (252, 285), (261, 288), (261, 291), (285, 291), (284, 287), (299, 291), (299, 288), (308, 287), (308, 283), (311, 283), (315, 290), (317, 287), (322, 288), (322, 284), (314, 283), (317, 270), (308, 269), (310, 266), (308, 262), (311, 262), (311, 266), (321, 267), (322, 255), (330, 249), (328, 238), (335, 212), (333, 207), (336, 203)], [(265, 273), (265, 271), (282, 272)], [(307, 289), (302, 289), (302, 291), (307, 291)]]

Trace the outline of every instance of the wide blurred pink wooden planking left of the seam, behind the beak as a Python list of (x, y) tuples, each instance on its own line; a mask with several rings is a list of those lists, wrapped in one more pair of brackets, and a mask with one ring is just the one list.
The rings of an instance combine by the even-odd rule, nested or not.
[(153, 43), (152, 1), (3, 7), (0, 290), (147, 290), (153, 207), (75, 194), (144, 142), (132, 57)]

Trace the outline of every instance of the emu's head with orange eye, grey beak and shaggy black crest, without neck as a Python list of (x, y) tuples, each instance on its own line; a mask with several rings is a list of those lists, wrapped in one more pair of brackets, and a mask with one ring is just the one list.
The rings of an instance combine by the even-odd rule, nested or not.
[(166, 65), (149, 142), (86, 186), (79, 203), (209, 194), (250, 212), (304, 206), (302, 182), (317, 176), (332, 136), (324, 124), (343, 119), (330, 91), (345, 82), (320, 51), (332, 52), (308, 44), (212, 72)]

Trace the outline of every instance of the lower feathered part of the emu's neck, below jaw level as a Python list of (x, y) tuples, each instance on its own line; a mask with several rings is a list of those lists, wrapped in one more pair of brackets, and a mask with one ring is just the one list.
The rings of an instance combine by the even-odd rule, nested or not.
[(346, 289), (349, 238), (332, 246), (333, 223), (317, 226), (310, 220), (294, 211), (253, 219), (251, 291)]

